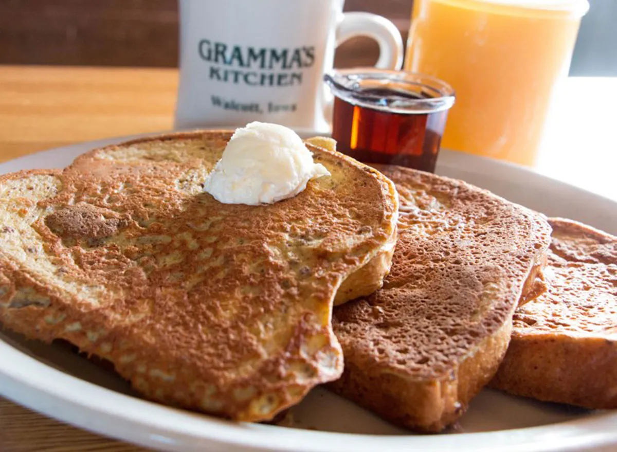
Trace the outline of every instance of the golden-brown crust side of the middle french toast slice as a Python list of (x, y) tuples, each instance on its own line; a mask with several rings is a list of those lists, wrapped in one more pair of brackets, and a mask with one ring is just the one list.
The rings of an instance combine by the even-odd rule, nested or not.
[[(501, 198), (492, 193), (491, 196)], [(532, 216), (546, 219), (543, 214), (523, 206), (520, 208)], [(548, 224), (546, 227), (547, 232), (550, 232)], [(328, 383), (327, 386), (341, 395), (351, 395), (348, 397), (350, 400), (357, 403), (361, 401), (363, 407), (371, 409), (384, 419), (416, 432), (439, 433), (452, 425), (466, 411), (471, 399), (478, 395), (497, 372), (510, 343), (512, 316), (516, 308), (537, 298), (546, 290), (542, 270), (547, 264), (548, 241), (543, 245), (537, 248), (537, 254), (521, 284), (518, 303), (511, 307), (509, 321), (503, 322), (499, 329), (470, 350), (458, 362), (456, 374), (444, 375), (439, 380), (413, 381), (400, 375), (384, 373), (383, 369), (373, 364), (365, 363), (361, 368), (346, 361), (341, 379)], [(356, 379), (354, 375), (362, 378)], [(388, 390), (378, 391), (379, 387), (386, 387)], [(418, 404), (423, 406), (422, 415), (411, 416), (407, 407)], [(420, 412), (418, 409), (413, 411)]]

